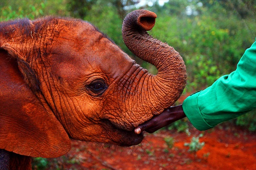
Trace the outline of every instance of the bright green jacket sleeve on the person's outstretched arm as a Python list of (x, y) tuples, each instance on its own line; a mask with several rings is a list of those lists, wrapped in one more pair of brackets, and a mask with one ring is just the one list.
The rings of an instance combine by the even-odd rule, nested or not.
[(256, 108), (256, 42), (244, 52), (236, 71), (190, 95), (182, 107), (198, 130), (207, 130)]

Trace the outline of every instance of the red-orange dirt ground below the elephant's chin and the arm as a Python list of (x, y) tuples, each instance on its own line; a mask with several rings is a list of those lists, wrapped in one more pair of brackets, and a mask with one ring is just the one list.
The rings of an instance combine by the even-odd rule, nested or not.
[[(69, 153), (49, 159), (49, 169), (64, 170), (256, 170), (256, 134), (238, 127), (221, 125), (203, 132), (204, 147), (189, 152), (192, 136), (201, 131), (189, 127), (191, 133), (159, 130), (145, 134), (142, 144), (117, 147), (92, 142), (73, 141)], [(168, 146), (165, 139), (174, 139)], [(169, 142), (170, 145), (170, 142)]]

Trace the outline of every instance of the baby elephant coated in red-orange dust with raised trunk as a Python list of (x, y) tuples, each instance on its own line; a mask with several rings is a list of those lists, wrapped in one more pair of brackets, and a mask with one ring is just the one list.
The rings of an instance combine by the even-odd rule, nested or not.
[(142, 142), (134, 128), (173, 105), (186, 85), (183, 58), (147, 33), (156, 17), (136, 10), (122, 25), (125, 45), (156, 75), (86, 21), (1, 22), (0, 149), (54, 158), (70, 150), (70, 139)]

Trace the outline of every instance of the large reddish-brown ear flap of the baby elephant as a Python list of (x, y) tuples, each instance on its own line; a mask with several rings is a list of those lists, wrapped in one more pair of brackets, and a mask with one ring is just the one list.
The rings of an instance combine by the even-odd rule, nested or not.
[(64, 155), (70, 150), (66, 131), (33, 93), (38, 87), (28, 85), (31, 79), (37, 83), (35, 75), (24, 75), (31, 70), (8, 49), (0, 46), (0, 149), (32, 157)]

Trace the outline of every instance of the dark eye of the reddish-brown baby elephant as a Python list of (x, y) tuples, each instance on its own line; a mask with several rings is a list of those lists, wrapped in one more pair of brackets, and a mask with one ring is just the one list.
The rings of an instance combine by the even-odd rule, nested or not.
[(108, 88), (108, 86), (105, 84), (105, 82), (102, 79), (96, 79), (86, 86), (87, 86), (87, 89), (93, 92), (92, 94), (93, 96), (98, 96), (102, 94)]

